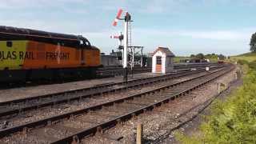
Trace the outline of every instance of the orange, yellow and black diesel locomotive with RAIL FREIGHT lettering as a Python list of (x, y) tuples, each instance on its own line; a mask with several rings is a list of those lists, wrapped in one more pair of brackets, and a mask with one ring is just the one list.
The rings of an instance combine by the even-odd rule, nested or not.
[(93, 78), (100, 50), (79, 35), (0, 26), (0, 83)]

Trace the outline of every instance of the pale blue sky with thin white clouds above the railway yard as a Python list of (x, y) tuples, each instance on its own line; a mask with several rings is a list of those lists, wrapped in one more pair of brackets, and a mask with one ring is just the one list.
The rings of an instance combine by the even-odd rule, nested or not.
[(116, 50), (110, 35), (118, 9), (132, 20), (132, 45), (145, 53), (158, 46), (176, 55), (249, 52), (256, 32), (256, 0), (1, 0), (0, 25), (82, 34), (106, 54)]

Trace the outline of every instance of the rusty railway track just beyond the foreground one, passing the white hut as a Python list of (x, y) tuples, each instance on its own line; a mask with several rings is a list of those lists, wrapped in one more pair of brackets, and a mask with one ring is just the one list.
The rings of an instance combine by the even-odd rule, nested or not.
[(55, 106), (62, 103), (79, 101), (82, 98), (91, 98), (102, 94), (121, 92), (126, 89), (137, 89), (142, 86), (152, 85), (157, 82), (169, 81), (172, 78), (180, 78), (188, 74), (196, 74), (203, 70), (182, 72), (178, 74), (166, 74), (153, 78), (141, 78), (126, 82), (107, 83), (81, 90), (67, 90), (62, 93), (39, 95), (32, 98), (21, 98), (8, 102), (0, 102), (0, 119), (5, 116), (22, 114), (29, 110), (38, 110), (46, 106)]

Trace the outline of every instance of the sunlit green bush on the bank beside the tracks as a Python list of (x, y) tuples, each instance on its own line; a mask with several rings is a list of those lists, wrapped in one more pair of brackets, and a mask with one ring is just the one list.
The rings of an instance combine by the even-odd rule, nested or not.
[(256, 143), (256, 62), (243, 78), (243, 86), (226, 102), (214, 102), (199, 136), (177, 134), (182, 143)]

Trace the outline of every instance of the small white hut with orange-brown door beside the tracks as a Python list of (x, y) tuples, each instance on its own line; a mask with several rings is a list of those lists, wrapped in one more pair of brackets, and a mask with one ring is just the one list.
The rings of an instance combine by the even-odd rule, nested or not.
[(152, 73), (170, 73), (174, 70), (174, 54), (167, 47), (158, 47), (152, 58)]

